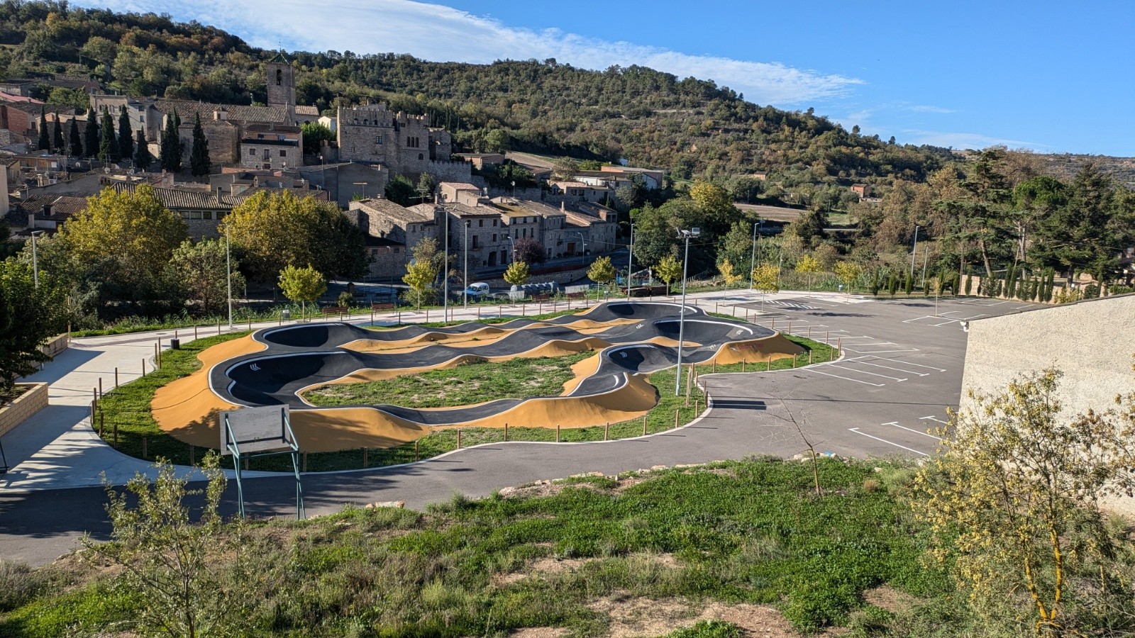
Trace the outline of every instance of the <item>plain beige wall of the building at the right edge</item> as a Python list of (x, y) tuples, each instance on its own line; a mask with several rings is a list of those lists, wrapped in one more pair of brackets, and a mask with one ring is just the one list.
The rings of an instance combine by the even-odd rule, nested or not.
[(1133, 355), (1135, 295), (973, 320), (961, 404), (972, 404), (970, 389), (1001, 392), (1024, 372), (1056, 366), (1066, 415), (1105, 410), (1116, 395), (1135, 391)]

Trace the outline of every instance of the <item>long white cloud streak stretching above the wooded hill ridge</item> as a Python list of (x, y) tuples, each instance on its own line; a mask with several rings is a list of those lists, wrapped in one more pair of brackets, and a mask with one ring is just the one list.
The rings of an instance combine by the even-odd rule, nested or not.
[(760, 104), (802, 106), (848, 94), (861, 79), (780, 62), (696, 56), (585, 37), (548, 28), (533, 31), (474, 16), (443, 5), (411, 0), (339, 0), (312, 5), (305, 0), (79, 0), (116, 10), (169, 12), (235, 33), (262, 48), (336, 50), (355, 53), (411, 53), (428, 60), (491, 62), (498, 59), (546, 59), (582, 68), (639, 65), (680, 78), (713, 79)]

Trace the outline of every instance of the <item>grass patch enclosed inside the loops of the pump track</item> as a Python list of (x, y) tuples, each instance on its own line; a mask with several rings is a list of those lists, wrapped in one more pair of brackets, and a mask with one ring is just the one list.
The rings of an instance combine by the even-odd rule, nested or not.
[(574, 377), (571, 367), (594, 355), (589, 351), (501, 363), (478, 361), (381, 381), (322, 386), (304, 394), (304, 398), (314, 405), (389, 403), (403, 408), (453, 408), (496, 398), (556, 396)]

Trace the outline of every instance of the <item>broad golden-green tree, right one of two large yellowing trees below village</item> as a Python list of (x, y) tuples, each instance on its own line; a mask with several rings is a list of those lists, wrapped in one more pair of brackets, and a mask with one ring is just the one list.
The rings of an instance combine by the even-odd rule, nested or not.
[(310, 265), (344, 278), (367, 270), (362, 232), (334, 202), (301, 199), (287, 191), (260, 192), (233, 209), (225, 228), (253, 282), (270, 282), (289, 265)]

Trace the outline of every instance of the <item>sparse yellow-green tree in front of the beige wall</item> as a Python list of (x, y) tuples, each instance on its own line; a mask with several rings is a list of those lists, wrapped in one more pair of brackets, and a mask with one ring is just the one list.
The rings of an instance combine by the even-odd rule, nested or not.
[(933, 555), (953, 564), (970, 601), (1019, 605), (993, 611), (983, 619), (990, 626), (1031, 615), (1006, 628), (1019, 636), (1084, 636), (1077, 622), (1090, 610), (1130, 618), (1135, 593), (1116, 572), (1115, 537), (1100, 509), (1104, 497), (1135, 488), (1135, 395), (1118, 410), (1067, 417), (1060, 377), (1050, 368), (997, 394), (972, 393), (915, 481)]

